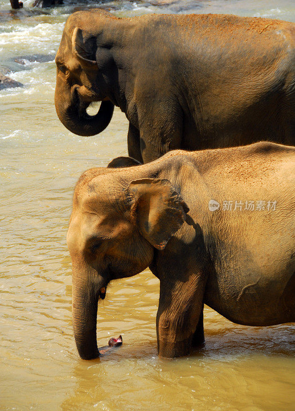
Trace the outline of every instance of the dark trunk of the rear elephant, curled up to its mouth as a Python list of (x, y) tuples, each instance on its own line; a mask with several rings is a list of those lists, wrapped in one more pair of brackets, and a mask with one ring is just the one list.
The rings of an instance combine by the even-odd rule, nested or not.
[(56, 89), (55, 104), (57, 115), (63, 125), (79, 136), (94, 136), (101, 133), (112, 120), (114, 104), (111, 101), (102, 101), (95, 116), (89, 116), (86, 108), (90, 102), (81, 102), (75, 88), (70, 96), (70, 102), (64, 101), (64, 93)]

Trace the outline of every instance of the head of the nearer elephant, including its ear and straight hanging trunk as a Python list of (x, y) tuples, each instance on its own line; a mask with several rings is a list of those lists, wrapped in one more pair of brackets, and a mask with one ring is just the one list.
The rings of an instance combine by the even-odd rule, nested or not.
[(89, 170), (73, 197), (67, 244), (73, 330), (83, 359), (99, 356), (97, 309), (108, 283), (150, 266), (155, 250), (165, 248), (189, 211), (170, 181), (128, 175), (122, 169)]

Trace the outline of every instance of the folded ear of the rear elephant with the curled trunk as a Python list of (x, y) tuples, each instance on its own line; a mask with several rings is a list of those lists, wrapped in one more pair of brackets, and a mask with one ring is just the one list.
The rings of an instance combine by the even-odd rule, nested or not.
[(81, 63), (96, 65), (96, 37), (76, 27), (72, 33), (72, 50)]

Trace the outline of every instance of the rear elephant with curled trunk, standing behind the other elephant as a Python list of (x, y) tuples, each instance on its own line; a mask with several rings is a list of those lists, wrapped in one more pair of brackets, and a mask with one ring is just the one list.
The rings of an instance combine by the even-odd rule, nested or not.
[[(114, 106), (128, 153), (295, 142), (295, 24), (234, 15), (69, 16), (56, 56), (55, 103), (73, 133), (100, 133)], [(98, 114), (86, 108), (101, 101)]]

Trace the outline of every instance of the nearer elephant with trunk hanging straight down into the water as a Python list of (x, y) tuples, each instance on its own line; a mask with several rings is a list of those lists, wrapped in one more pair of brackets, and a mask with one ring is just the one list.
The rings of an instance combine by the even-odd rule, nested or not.
[(204, 303), (237, 324), (295, 321), (295, 147), (261, 142), (131, 162), (86, 171), (73, 196), (67, 244), (82, 358), (99, 356), (108, 283), (146, 267), (160, 280), (162, 357), (204, 342)]

